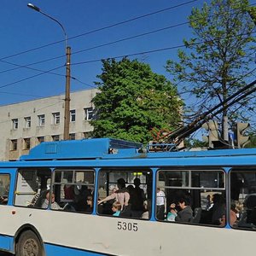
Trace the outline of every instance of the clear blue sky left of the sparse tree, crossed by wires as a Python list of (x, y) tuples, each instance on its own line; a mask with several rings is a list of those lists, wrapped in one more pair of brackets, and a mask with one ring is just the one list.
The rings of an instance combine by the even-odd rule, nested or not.
[[(44, 15), (27, 8), (27, 3), (38, 6), (42, 11), (59, 20), (65, 27), (67, 37), (70, 38), (68, 39), (68, 45), (71, 46), (73, 53), (72, 64), (95, 61), (72, 66), (72, 76), (78, 79), (71, 80), (71, 91), (75, 91), (89, 89), (90, 86), (94, 86), (93, 82), (96, 81), (96, 75), (102, 71), (102, 62), (96, 60), (142, 53), (154, 49), (165, 49), (183, 44), (183, 38), (188, 38), (190, 33), (187, 24), (160, 32), (154, 31), (186, 22), (191, 9), (201, 7), (204, 2), (202, 0), (30, 1), (32, 0), (1, 0), (0, 105), (59, 95), (64, 93), (65, 90), (65, 43), (52, 44), (64, 39), (61, 26)], [(178, 7), (177, 5), (181, 6)], [(177, 7), (175, 8), (175, 6)], [(148, 15), (163, 9), (166, 9), (166, 11)], [(143, 15), (148, 16), (93, 32), (102, 27)], [(88, 32), (92, 33), (86, 35)], [(154, 33), (90, 49), (147, 32)], [(52, 45), (31, 50), (47, 44)], [(20, 54), (24, 51), (27, 52)], [(176, 56), (177, 49), (170, 49), (131, 58), (136, 57), (139, 61), (149, 63), (155, 73), (164, 74), (168, 78), (164, 67), (166, 60), (175, 59)], [(60, 58), (44, 61), (55, 57)], [(44, 62), (30, 65), (38, 61)], [(15, 65), (30, 65), (30, 68), (42, 72), (24, 67), (20, 68)], [(49, 73), (38, 75), (55, 67), (61, 67), (53, 71), (53, 73), (59, 75)]]

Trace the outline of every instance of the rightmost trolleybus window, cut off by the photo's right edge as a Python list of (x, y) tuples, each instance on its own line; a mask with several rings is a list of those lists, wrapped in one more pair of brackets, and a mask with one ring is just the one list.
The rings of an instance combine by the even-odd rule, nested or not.
[(256, 168), (230, 171), (230, 225), (256, 230)]

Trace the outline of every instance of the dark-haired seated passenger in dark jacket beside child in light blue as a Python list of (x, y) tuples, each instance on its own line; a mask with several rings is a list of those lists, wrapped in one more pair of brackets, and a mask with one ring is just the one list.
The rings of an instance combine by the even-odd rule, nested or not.
[(175, 217), (175, 221), (178, 222), (190, 222), (190, 220), (193, 218), (193, 210), (189, 206), (190, 201), (188, 197), (180, 198), (177, 201), (177, 206), (180, 207), (180, 211), (177, 212), (175, 209), (176, 204), (172, 203), (171, 208), (177, 212), (177, 216)]

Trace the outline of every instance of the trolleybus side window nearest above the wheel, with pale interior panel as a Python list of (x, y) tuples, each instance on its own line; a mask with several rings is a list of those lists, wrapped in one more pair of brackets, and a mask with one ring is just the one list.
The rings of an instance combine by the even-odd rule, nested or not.
[(24, 168), (17, 174), (15, 206), (41, 208), (49, 189), (51, 172), (48, 168)]

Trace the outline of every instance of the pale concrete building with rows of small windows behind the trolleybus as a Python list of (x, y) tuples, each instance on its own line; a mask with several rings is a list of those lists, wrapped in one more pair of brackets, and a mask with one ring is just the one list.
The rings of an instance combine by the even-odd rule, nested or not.
[[(90, 137), (92, 98), (97, 90), (71, 93), (70, 139)], [(0, 107), (0, 160), (16, 160), (38, 143), (63, 139), (64, 95)]]

